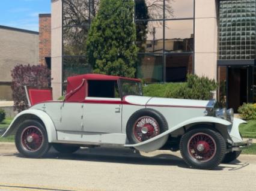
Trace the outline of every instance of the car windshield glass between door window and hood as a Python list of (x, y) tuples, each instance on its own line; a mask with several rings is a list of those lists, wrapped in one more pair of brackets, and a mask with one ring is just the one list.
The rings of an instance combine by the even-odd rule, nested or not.
[(142, 87), (139, 81), (120, 80), (123, 96), (138, 95), (142, 96)]

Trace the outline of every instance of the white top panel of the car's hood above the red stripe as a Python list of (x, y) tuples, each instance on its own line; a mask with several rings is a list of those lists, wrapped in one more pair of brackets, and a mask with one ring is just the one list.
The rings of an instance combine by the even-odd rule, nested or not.
[(213, 107), (214, 100), (204, 101), (195, 99), (173, 99), (173, 98), (155, 98), (147, 96), (126, 96), (124, 98), (129, 104), (146, 105), (146, 106), (159, 106), (159, 107), (196, 107), (206, 108)]

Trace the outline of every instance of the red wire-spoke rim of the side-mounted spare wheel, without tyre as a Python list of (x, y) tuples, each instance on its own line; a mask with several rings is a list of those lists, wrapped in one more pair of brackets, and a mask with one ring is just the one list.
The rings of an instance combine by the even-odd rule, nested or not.
[(140, 117), (133, 126), (133, 134), (139, 142), (149, 140), (160, 134), (159, 124), (153, 117)]

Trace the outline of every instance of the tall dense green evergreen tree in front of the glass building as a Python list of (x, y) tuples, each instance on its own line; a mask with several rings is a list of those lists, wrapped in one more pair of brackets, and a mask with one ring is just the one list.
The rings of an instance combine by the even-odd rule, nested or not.
[(136, 29), (133, 0), (102, 0), (88, 34), (88, 63), (95, 73), (135, 76)]

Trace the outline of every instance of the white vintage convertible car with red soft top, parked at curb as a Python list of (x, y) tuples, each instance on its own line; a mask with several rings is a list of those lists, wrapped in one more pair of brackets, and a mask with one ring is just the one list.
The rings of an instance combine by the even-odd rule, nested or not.
[(52, 145), (61, 153), (81, 146), (130, 147), (150, 152), (180, 150), (187, 165), (212, 169), (236, 159), (251, 144), (239, 134), (233, 110), (215, 101), (142, 96), (141, 81), (85, 74), (67, 79), (64, 101), (26, 87), (28, 110), (19, 113), (2, 137), (15, 135), (17, 150), (42, 157)]

